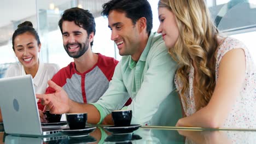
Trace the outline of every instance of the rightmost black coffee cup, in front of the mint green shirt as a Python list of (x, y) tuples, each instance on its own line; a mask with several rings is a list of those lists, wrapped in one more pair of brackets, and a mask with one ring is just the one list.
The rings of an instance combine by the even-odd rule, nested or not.
[(131, 124), (131, 110), (112, 111), (113, 121), (116, 127), (128, 127)]

